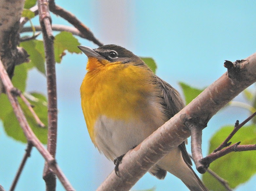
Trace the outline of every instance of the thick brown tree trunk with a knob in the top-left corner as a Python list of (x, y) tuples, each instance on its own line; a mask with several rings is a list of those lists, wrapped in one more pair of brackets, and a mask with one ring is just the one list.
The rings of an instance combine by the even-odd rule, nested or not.
[[(21, 60), (27, 60), (27, 52), (23, 48), (17, 49), (19, 20), (24, 2), (25, 0), (0, 0), (0, 56), (10, 78), (15, 65), (20, 64)], [(0, 81), (0, 94), (2, 92), (3, 84)]]

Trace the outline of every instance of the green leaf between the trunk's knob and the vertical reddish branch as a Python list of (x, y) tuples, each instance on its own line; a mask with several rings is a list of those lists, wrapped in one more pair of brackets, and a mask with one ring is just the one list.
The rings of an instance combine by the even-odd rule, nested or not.
[(43, 41), (29, 40), (21, 42), (20, 46), (22, 46), (30, 55), (29, 58), (31, 62), (27, 64), (28, 69), (36, 67), (39, 72), (41, 72), (43, 75), (46, 75), (45, 52)]

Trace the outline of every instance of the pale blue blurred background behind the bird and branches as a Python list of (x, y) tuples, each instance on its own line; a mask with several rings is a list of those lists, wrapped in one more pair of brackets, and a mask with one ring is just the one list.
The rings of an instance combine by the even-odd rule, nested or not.
[[(206, 87), (226, 68), (224, 60), (243, 59), (256, 50), (255, 1), (102, 1), (56, 0), (74, 13), (104, 44), (119, 44), (139, 56), (153, 57), (156, 74), (180, 90), (177, 82)], [(38, 18), (34, 19), (35, 24)], [(53, 23), (68, 24), (53, 16)], [(96, 48), (79, 38), (82, 45)], [(91, 142), (84, 122), (79, 88), (85, 75), (84, 54), (67, 53), (57, 64), (58, 142), (57, 162), (76, 190), (95, 190), (114, 168)], [(36, 70), (29, 73), (27, 91), (46, 94), (46, 79)], [(242, 96), (236, 98), (242, 100)], [(231, 116), (231, 117), (230, 117)], [(221, 125), (242, 121), (246, 110), (227, 108), (214, 116), (203, 131), (203, 154)], [(25, 144), (7, 137), (0, 122), (0, 184), (6, 190), (24, 154)], [(187, 147), (188, 150), (189, 146)], [(45, 190), (44, 160), (33, 148), (17, 190)], [(254, 176), (242, 190), (256, 190)], [(146, 174), (134, 189), (187, 190), (173, 175), (163, 181)], [(58, 183), (57, 190), (64, 190)]]

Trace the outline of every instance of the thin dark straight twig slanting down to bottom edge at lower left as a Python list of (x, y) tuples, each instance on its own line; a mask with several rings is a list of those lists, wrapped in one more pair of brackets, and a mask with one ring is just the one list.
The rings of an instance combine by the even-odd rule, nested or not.
[(23, 159), (22, 159), (20, 167), (19, 167), (19, 169), (18, 169), (18, 171), (16, 173), (16, 176), (15, 176), (15, 178), (14, 178), (12, 184), (11, 184), (10, 191), (13, 191), (15, 189), (15, 187), (16, 187), (16, 185), (18, 183), (18, 180), (20, 178), (21, 172), (22, 172), (22, 170), (23, 170), (23, 168), (25, 166), (25, 163), (27, 162), (28, 157), (30, 157), (30, 153), (31, 153), (32, 147), (33, 147), (32, 142), (28, 141), (27, 142), (27, 149), (25, 149), (26, 152), (25, 152), (25, 154), (23, 156)]

